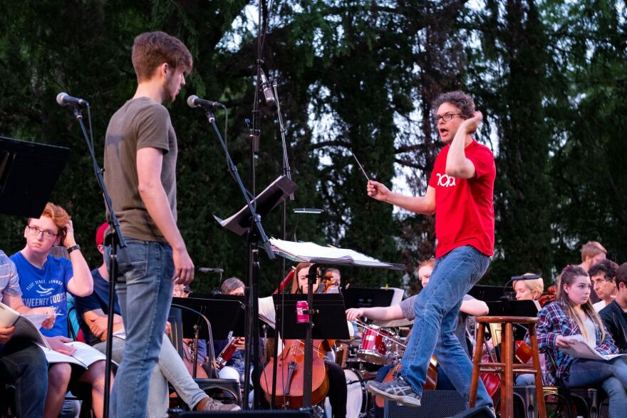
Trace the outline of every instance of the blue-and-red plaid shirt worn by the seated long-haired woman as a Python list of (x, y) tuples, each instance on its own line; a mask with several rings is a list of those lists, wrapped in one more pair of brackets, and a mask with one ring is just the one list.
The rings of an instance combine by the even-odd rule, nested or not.
[[(565, 352), (559, 350), (555, 345), (555, 340), (558, 335), (580, 335), (581, 330), (577, 323), (566, 315), (566, 312), (562, 309), (562, 305), (559, 302), (551, 302), (549, 305), (544, 306), (540, 312), (538, 312), (539, 321), (536, 325), (538, 335), (538, 347), (540, 352), (548, 353), (554, 360), (547, 359), (546, 361), (546, 374), (544, 376), (544, 382), (554, 385), (556, 379), (564, 379), (569, 375), (569, 369), (575, 357), (567, 355)], [(596, 329), (596, 341), (601, 341), (601, 327), (598, 327), (595, 322)], [(605, 340), (600, 345), (596, 345), (596, 351), (602, 355), (617, 354), (618, 348), (614, 345), (609, 332), (605, 333)]]

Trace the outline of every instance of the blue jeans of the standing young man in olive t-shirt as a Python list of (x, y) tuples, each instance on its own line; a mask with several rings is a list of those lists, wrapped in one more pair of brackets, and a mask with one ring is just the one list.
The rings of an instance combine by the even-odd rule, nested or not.
[[(166, 243), (126, 240), (118, 250), (118, 292), (126, 344), (115, 375), (111, 396), (112, 417), (147, 414), (148, 387), (157, 365), (172, 301), (174, 260)], [(107, 248), (107, 257), (110, 248)]]

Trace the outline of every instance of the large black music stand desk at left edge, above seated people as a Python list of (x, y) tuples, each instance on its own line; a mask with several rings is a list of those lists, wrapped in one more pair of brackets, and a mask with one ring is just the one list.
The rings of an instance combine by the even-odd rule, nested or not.
[(39, 218), (69, 155), (70, 148), (0, 136), (0, 213)]

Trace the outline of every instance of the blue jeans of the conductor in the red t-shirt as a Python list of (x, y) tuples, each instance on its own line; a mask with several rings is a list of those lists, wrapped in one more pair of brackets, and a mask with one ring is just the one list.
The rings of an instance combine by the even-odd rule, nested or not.
[[(464, 295), (488, 265), (489, 257), (470, 245), (455, 248), (435, 261), (429, 285), (416, 297), (414, 326), (402, 360), (401, 375), (416, 393), (423, 393), (429, 359), (435, 355), (457, 392), (470, 397), (472, 362), (455, 337), (455, 328)], [(492, 399), (480, 380), (476, 406), (482, 405), (492, 406)]]

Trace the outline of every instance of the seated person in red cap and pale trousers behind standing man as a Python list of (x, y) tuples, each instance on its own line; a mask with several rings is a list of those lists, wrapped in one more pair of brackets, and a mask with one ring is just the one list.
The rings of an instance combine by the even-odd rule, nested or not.
[[(103, 223), (96, 232), (95, 243), (100, 254), (104, 254), (104, 234), (108, 224)], [(86, 342), (93, 345), (100, 352), (106, 352), (106, 339), (109, 315), (109, 275), (107, 265), (103, 262), (100, 267), (92, 270), (94, 291), (86, 297), (76, 297), (76, 313), (81, 324), (81, 330)], [(113, 361), (118, 364), (122, 361), (125, 340), (123, 338), (123, 320), (120, 316), (118, 297), (115, 296), (113, 307)], [(180, 355), (170, 342), (167, 335), (163, 335), (161, 351), (157, 366), (150, 376), (148, 392), (148, 417), (167, 417), (169, 393), (167, 382), (170, 382), (180, 397), (190, 409), (197, 411), (239, 409), (237, 405), (225, 405), (217, 402), (205, 394), (194, 379), (187, 372)]]

